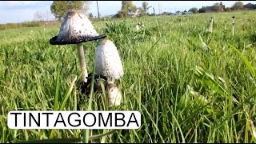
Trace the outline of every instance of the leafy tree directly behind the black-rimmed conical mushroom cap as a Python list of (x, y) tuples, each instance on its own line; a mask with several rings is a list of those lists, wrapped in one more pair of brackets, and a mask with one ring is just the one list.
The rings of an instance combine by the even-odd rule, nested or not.
[(54, 1), (50, 6), (50, 11), (59, 21), (68, 10), (89, 10), (89, 1)]

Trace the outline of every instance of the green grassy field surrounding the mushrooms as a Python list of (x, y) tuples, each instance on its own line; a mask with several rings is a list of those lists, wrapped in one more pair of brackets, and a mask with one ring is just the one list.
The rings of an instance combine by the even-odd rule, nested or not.
[[(94, 22), (98, 33), (107, 34), (116, 44), (124, 66), (125, 75), (117, 82), (123, 101), (115, 109), (138, 110), (142, 126), (96, 139), (106, 130), (89, 130), (90, 142), (256, 142), (255, 14)], [(213, 33), (207, 31), (210, 17), (214, 17)], [(144, 23), (144, 30), (135, 32), (137, 22)], [(78, 89), (81, 71), (76, 46), (49, 43), (58, 30), (59, 26), (0, 30), (0, 142), (83, 137), (82, 130), (10, 130), (7, 126), (10, 110), (54, 110), (57, 95), (55, 109), (66, 97), (63, 110), (87, 110), (88, 99)], [(89, 73), (97, 45), (83, 44)], [(75, 76), (78, 80), (70, 89)], [(107, 110), (104, 96), (91, 98), (92, 110)]]

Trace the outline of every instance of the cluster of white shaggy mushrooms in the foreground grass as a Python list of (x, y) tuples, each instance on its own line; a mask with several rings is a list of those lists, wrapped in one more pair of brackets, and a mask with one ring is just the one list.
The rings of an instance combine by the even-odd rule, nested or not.
[(86, 59), (82, 42), (90, 42), (101, 39), (95, 55), (94, 92), (101, 91), (100, 82), (105, 86), (109, 106), (119, 106), (122, 94), (115, 80), (122, 78), (124, 72), (122, 61), (119, 57), (114, 42), (106, 39), (105, 34), (98, 34), (94, 26), (82, 10), (70, 10), (63, 19), (59, 34), (50, 38), (51, 45), (76, 44), (80, 68), (82, 70), (82, 93), (90, 93), (92, 74), (88, 74)]

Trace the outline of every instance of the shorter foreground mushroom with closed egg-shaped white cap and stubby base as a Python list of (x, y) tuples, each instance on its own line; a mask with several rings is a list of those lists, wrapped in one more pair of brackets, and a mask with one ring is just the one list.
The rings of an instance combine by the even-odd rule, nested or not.
[(109, 97), (109, 106), (120, 105), (122, 95), (114, 81), (122, 78), (124, 72), (122, 61), (114, 42), (102, 40), (98, 44), (95, 71), (97, 74), (107, 78), (106, 90)]

